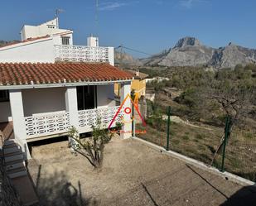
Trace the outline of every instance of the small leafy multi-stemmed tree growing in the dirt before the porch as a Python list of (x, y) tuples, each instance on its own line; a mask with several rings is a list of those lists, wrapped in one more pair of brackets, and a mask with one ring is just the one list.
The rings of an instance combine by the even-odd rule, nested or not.
[(95, 169), (99, 169), (103, 165), (104, 160), (104, 146), (109, 143), (114, 136), (112, 132), (104, 129), (100, 119), (97, 119), (95, 126), (92, 127), (92, 137), (80, 140), (77, 137), (78, 131), (75, 127), (71, 127), (69, 131), (69, 137), (77, 143), (74, 147), (74, 151), (82, 156), (85, 156), (89, 163), (94, 166)]

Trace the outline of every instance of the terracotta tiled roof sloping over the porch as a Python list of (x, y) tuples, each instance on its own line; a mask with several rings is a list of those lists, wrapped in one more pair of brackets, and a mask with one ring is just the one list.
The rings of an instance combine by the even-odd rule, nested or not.
[(0, 88), (10, 85), (66, 84), (133, 79), (109, 64), (0, 63)]

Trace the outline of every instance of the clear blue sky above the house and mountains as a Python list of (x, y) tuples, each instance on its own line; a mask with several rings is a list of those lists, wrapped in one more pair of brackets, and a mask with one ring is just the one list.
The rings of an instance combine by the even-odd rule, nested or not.
[(255, 0), (99, 0), (98, 26), (94, 7), (95, 0), (3, 0), (0, 40), (19, 40), (23, 24), (50, 20), (62, 8), (60, 27), (73, 29), (79, 45), (97, 33), (101, 46), (123, 44), (149, 54), (174, 46), (183, 36), (213, 47), (232, 41), (256, 48)]

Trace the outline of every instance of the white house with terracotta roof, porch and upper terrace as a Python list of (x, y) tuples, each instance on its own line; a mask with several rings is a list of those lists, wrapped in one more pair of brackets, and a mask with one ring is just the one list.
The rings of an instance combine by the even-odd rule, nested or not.
[[(119, 108), (114, 84), (122, 85), (121, 102), (130, 93), (133, 77), (114, 67), (114, 48), (100, 47), (94, 36), (74, 46), (72, 35), (54, 19), (23, 26), (22, 41), (0, 48), (0, 124), (12, 122), (27, 158), (27, 142), (64, 136), (70, 126), (89, 132), (97, 117), (108, 127)], [(119, 113), (117, 121), (121, 116), (130, 119)], [(126, 123), (122, 137), (130, 130)]]

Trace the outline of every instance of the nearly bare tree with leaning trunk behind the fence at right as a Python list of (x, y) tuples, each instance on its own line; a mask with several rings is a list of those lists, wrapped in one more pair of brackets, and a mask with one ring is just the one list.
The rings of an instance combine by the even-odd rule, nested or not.
[[(242, 74), (241, 74), (242, 73)], [(229, 117), (229, 136), (235, 124), (246, 119), (249, 111), (252, 109), (252, 99), (254, 98), (254, 80), (247, 71), (240, 71), (239, 66), (236, 69), (223, 69), (219, 71), (209, 85), (202, 89), (202, 96), (208, 101), (215, 101), (220, 105), (220, 109), (225, 117)], [(224, 129), (225, 133), (225, 129)], [(215, 157), (221, 151), (224, 145), (225, 135), (220, 139), (220, 145), (217, 147), (212, 158), (211, 165)]]

